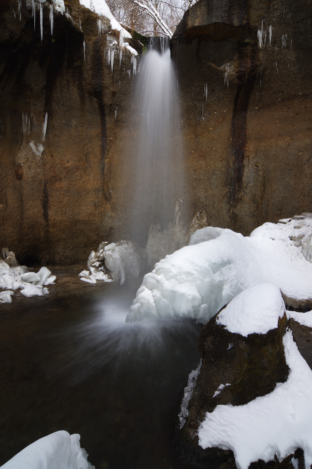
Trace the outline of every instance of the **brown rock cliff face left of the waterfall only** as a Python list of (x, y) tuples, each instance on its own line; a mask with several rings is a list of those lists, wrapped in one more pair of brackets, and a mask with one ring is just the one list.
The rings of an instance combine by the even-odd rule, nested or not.
[(27, 265), (72, 264), (114, 226), (135, 70), (131, 54), (120, 63), (110, 46), (109, 21), (99, 30), (78, 0), (65, 1), (67, 14), (54, 11), (53, 36), (43, 4), (42, 40), (34, 4), (35, 20), (31, 2), (0, 5), (0, 244)]

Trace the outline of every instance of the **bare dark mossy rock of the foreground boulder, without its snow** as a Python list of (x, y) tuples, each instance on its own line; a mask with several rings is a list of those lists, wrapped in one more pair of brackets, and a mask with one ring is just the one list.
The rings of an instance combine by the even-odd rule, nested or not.
[(247, 337), (230, 333), (217, 324), (217, 316), (200, 333), (198, 349), (202, 364), (188, 401), (188, 412), (184, 418), (180, 414), (176, 437), (183, 459), (209, 469), (228, 463), (233, 454), (198, 446), (198, 427), (206, 412), (213, 412), (219, 404), (243, 405), (270, 393), (276, 383), (286, 381), (289, 373), (282, 343), (288, 326), (286, 314), (279, 319), (277, 328)]

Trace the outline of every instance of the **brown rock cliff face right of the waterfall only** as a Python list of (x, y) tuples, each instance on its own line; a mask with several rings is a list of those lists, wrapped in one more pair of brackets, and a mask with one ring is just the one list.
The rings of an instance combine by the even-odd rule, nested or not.
[(311, 204), (309, 6), (200, 0), (172, 39), (193, 207), (243, 234)]

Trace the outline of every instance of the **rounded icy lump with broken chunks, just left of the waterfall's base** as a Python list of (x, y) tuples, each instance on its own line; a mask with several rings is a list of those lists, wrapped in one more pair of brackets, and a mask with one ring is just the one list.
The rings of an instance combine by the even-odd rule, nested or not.
[[(127, 278), (137, 278), (146, 268), (146, 250), (130, 241), (101, 242), (97, 252), (91, 251), (88, 258), (89, 271), (79, 273), (80, 280), (96, 283), (119, 281), (122, 285)], [(108, 277), (108, 273), (112, 278)]]

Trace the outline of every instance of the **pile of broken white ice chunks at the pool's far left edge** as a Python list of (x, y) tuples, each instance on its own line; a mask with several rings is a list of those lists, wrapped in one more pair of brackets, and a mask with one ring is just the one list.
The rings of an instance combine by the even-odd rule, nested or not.
[(21, 294), (27, 297), (43, 296), (49, 293), (46, 285), (54, 285), (56, 276), (46, 267), (38, 273), (31, 272), (25, 265), (19, 265), (15, 254), (8, 248), (2, 250), (5, 260), (0, 259), (0, 303), (11, 303), (12, 290), (21, 288)]

